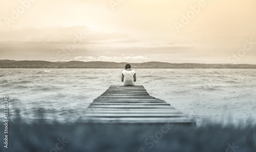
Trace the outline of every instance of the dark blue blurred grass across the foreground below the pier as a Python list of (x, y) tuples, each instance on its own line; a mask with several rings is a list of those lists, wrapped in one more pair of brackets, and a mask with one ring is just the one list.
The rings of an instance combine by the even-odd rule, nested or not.
[(0, 151), (256, 151), (254, 124), (200, 126), (24, 123), (17, 116), (8, 125), (8, 148)]

